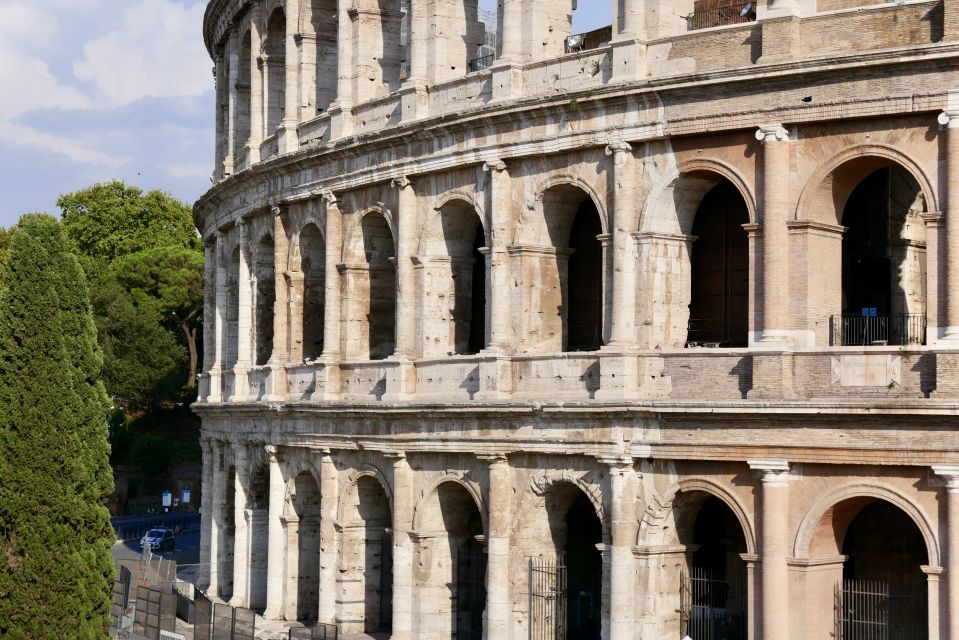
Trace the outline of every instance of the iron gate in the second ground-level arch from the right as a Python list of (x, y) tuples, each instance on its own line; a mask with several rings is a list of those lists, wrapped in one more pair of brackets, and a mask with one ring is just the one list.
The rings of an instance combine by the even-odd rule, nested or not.
[(746, 588), (722, 571), (680, 574), (680, 633), (696, 640), (746, 640)]

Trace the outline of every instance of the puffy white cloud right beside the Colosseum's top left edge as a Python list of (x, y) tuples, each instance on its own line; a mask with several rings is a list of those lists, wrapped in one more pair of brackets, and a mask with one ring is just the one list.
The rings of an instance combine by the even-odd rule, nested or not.
[(140, 0), (116, 28), (84, 45), (74, 74), (111, 106), (209, 91), (212, 62), (199, 35), (204, 9), (205, 2)]

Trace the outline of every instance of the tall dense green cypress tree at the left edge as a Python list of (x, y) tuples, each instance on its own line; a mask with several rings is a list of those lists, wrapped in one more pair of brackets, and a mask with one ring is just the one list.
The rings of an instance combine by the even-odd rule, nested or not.
[(0, 280), (0, 637), (102, 638), (112, 482), (89, 300), (56, 222), (22, 222)]

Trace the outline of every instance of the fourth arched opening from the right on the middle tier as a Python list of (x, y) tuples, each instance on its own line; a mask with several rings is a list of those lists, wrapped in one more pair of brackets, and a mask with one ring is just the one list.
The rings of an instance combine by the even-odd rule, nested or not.
[(417, 269), (424, 357), (486, 346), (485, 238), (476, 210), (462, 200), (443, 205), (427, 230)]

